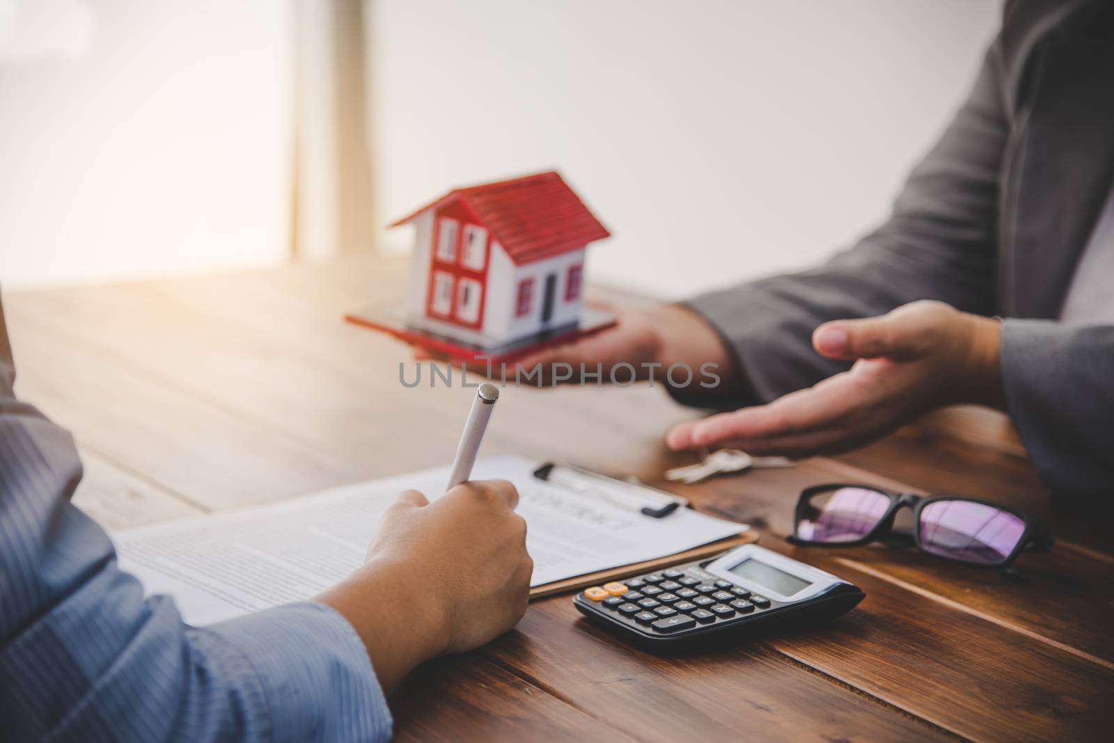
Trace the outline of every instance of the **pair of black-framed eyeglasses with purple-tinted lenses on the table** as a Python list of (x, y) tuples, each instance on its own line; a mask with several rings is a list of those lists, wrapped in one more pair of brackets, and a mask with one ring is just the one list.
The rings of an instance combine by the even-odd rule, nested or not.
[[(895, 516), (907, 506), (912, 508), (912, 529), (895, 529)], [(1008, 568), (1023, 549), (1048, 552), (1053, 545), (1042, 521), (997, 503), (957, 495), (891, 493), (854, 483), (802, 491), (789, 541), (829, 547), (911, 542), (937, 557), (1000, 568)]]

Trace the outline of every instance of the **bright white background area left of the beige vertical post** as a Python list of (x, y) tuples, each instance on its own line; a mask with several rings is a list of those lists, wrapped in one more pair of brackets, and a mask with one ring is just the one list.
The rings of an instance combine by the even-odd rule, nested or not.
[(283, 262), (292, 16), (0, 0), (0, 285)]

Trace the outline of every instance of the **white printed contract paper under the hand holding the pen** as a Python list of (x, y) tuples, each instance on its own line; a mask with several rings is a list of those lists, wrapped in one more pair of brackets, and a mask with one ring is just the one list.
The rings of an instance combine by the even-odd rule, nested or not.
[[(472, 479), (509, 479), (526, 519), (531, 586), (664, 557), (747, 527), (678, 508), (664, 518), (534, 477), (514, 456), (477, 460)], [(383, 511), (404, 489), (440, 496), (449, 467), (345, 485), (277, 505), (113, 534), (120, 566), (147, 594), (174, 596), (186, 622), (208, 624), (312, 598), (363, 564)]]

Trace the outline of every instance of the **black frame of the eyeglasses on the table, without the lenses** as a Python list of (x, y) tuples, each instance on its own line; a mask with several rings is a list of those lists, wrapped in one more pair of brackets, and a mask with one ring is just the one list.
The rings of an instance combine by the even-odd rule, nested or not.
[[(864, 534), (861, 538), (853, 539), (850, 542), (814, 542), (812, 539), (804, 539), (797, 533), (797, 526), (801, 523), (804, 516), (804, 511), (809, 506), (809, 502), (813, 496), (825, 493), (828, 491), (834, 491), (841, 487), (858, 487), (879, 495), (885, 495), (890, 499), (890, 505), (886, 509), (873, 528)], [(984, 506), (990, 506), (991, 508), (997, 508), (998, 511), (1004, 511), (1007, 514), (1020, 518), (1025, 524), (1025, 532), (1022, 533), (1022, 538), (1017, 541), (1017, 545), (1014, 547), (1013, 552), (1006, 555), (1003, 559), (996, 563), (980, 563), (973, 562), (969, 559), (962, 559), (960, 557), (948, 557), (947, 555), (940, 555), (932, 552), (931, 549), (926, 549), (920, 542), (920, 512), (921, 509), (939, 501), (965, 501), (968, 503), (978, 503)], [(897, 516), (898, 511), (903, 507), (912, 508), (912, 532), (911, 534), (903, 531), (893, 529), (893, 519)], [(889, 538), (887, 538), (889, 537)], [(822, 485), (812, 485), (810, 487), (801, 491), (800, 497), (797, 499), (797, 507), (793, 511), (793, 534), (788, 537), (788, 542), (802, 547), (861, 547), (862, 545), (870, 544), (872, 542), (890, 542), (890, 543), (906, 543), (911, 538), (912, 544), (917, 546), (917, 549), (924, 552), (927, 555), (937, 557), (939, 559), (946, 559), (951, 563), (960, 563), (962, 565), (975, 565), (978, 567), (994, 567), (998, 569), (1007, 569), (1009, 565), (1017, 558), (1022, 552), (1048, 552), (1055, 542), (1052, 532), (1048, 529), (1047, 524), (1040, 519), (1033, 516), (1027, 516), (1009, 506), (1003, 505), (1000, 503), (995, 503), (994, 501), (986, 501), (984, 498), (974, 498), (968, 495), (917, 495), (915, 493), (898, 493), (895, 491), (888, 491), (883, 487), (878, 487), (877, 485), (864, 485), (862, 483), (824, 483)]]

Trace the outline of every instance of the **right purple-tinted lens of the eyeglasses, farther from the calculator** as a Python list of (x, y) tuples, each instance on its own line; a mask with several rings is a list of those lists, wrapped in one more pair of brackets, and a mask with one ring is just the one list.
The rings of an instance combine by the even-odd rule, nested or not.
[(967, 563), (1000, 563), (1017, 547), (1025, 522), (1014, 514), (970, 501), (934, 501), (917, 524), (926, 552)]

